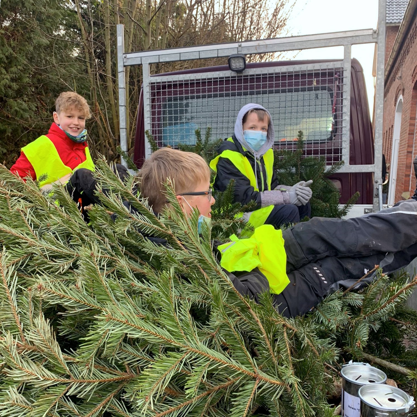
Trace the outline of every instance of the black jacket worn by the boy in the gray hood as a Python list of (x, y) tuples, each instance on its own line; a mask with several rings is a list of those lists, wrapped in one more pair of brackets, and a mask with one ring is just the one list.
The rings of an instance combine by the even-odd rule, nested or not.
[[(241, 144), (237, 141), (234, 135), (232, 136), (232, 139), (233, 142), (225, 139), (217, 149), (217, 153), (220, 155), (226, 150), (242, 153), (246, 156), (246, 158), (248, 158), (252, 169), (255, 169), (256, 167), (256, 177), (258, 178), (259, 191), (268, 191), (264, 157), (262, 156), (258, 163), (258, 161), (255, 161), (251, 152), (243, 150)], [(262, 187), (262, 177), (264, 178), (264, 187)], [(254, 190), (254, 187), (251, 186), (249, 178), (244, 176), (229, 159), (219, 158), (219, 163), (217, 164), (217, 175), (214, 180), (214, 189), (217, 191), (226, 190), (226, 187), (231, 179), (235, 180), (234, 201), (239, 201), (241, 204), (247, 204), (249, 201), (254, 200), (257, 203), (256, 208), (261, 208), (261, 194), (259, 191)], [(275, 171), (273, 171), (271, 178), (271, 190), (273, 190), (276, 186), (278, 186), (278, 180), (276, 178)]]

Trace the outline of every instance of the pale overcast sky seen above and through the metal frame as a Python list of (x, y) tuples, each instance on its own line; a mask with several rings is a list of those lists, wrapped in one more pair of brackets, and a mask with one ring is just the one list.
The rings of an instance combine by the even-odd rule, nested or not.
[[(288, 22), (289, 35), (340, 32), (342, 30), (377, 28), (378, 0), (297, 0)], [(296, 59), (342, 58), (343, 47), (320, 48), (301, 51)], [(352, 45), (352, 58), (364, 69), (368, 101), (374, 101), (372, 63), (374, 44)]]

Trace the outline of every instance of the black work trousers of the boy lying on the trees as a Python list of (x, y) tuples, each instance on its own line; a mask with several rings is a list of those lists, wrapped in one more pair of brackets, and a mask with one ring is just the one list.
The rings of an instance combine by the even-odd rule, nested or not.
[(376, 264), (388, 274), (407, 266), (417, 256), (417, 201), (348, 220), (314, 217), (283, 237), (290, 284), (273, 297), (281, 314), (294, 317), (349, 288)]

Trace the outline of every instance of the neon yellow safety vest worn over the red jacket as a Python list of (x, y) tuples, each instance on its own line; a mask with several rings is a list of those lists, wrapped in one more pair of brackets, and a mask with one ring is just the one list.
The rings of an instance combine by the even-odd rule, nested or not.
[(35, 170), (36, 179), (39, 179), (43, 175), (47, 175), (44, 181), (39, 183), (39, 187), (45, 184), (50, 184), (62, 178), (63, 176), (73, 173), (78, 168), (87, 168), (90, 171), (94, 171), (94, 162), (91, 159), (90, 151), (88, 147), (85, 147), (86, 160), (80, 165), (71, 169), (69, 166), (64, 165), (62, 162), (55, 145), (52, 143), (48, 136), (40, 136), (33, 142), (22, 148), (28, 161), (32, 164)]

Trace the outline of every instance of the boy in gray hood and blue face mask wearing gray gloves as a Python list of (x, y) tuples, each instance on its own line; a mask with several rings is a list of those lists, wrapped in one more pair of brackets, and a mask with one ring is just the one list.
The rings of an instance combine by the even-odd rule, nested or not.
[(216, 172), (214, 189), (224, 191), (234, 179), (234, 201), (256, 201), (256, 210), (243, 214), (254, 227), (272, 224), (279, 229), (311, 214), (311, 180), (294, 186), (278, 184), (273, 169), (274, 139), (269, 111), (258, 104), (246, 104), (237, 116), (234, 135), (221, 143), (219, 155), (210, 162)]

